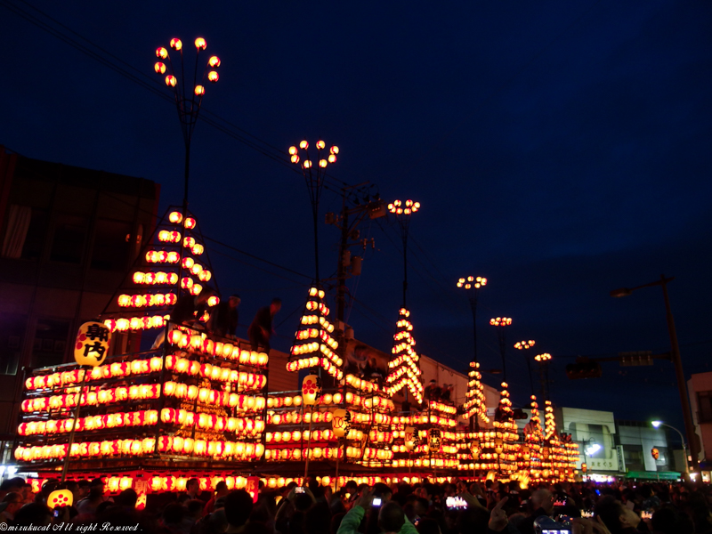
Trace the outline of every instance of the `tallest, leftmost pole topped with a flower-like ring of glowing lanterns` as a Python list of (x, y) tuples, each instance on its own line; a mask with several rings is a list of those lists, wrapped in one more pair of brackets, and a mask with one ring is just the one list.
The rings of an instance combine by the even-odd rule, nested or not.
[[(200, 112), (200, 104), (203, 101), (203, 96), (206, 93), (205, 83), (206, 80), (214, 84), (218, 81), (220, 76), (217, 73), (218, 67), (220, 67), (220, 58), (217, 56), (210, 56), (206, 62), (206, 68), (203, 71), (202, 77), (198, 80), (198, 58), (200, 52), (205, 50), (207, 47), (206, 40), (203, 37), (198, 37), (195, 40), (195, 68), (193, 69), (193, 82), (192, 88), (186, 91), (186, 77), (190, 77), (190, 73), (186, 73), (183, 66), (183, 44), (181, 39), (173, 38), (170, 42), (170, 48), (175, 52), (179, 53), (181, 56), (181, 71), (180, 73), (174, 69), (173, 61), (171, 61), (171, 56), (168, 50), (163, 46), (159, 46), (156, 49), (156, 57), (158, 61), (153, 66), (153, 69), (158, 75), (166, 75), (164, 78), (166, 85), (173, 90), (175, 97), (175, 106), (178, 109), (178, 118), (181, 121), (181, 128), (183, 133), (183, 142), (185, 142), (185, 184), (183, 189), (183, 217), (188, 216), (188, 177), (190, 174), (190, 141), (193, 137), (193, 130), (198, 122), (198, 113)], [(164, 63), (164, 61), (167, 62)], [(167, 74), (166, 74), (167, 73)], [(180, 78), (179, 78), (180, 76)]]

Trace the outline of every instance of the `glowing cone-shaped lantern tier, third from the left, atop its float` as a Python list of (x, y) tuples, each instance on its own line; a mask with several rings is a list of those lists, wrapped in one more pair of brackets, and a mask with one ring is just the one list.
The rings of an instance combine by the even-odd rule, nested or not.
[(398, 312), (396, 331), (393, 335), (392, 357), (388, 362), (388, 392), (392, 396), (404, 387), (417, 404), (423, 402), (423, 384), (420, 383), (419, 357), (416, 352), (416, 340), (413, 337), (413, 325), (410, 322), (410, 312), (401, 308)]

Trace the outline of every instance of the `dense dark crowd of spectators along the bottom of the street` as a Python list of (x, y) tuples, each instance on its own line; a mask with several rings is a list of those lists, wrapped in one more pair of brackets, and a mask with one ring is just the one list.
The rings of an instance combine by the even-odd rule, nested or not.
[[(72, 506), (51, 509), (53, 490), (73, 494)], [(181, 494), (105, 494), (101, 479), (45, 482), (36, 495), (23, 479), (0, 487), (0, 530), (128, 530), (156, 534), (708, 534), (712, 491), (706, 484), (541, 484), (516, 481), (423, 481), (369, 487), (347, 481), (338, 491), (316, 480), (299, 487), (261, 486), (256, 502), (246, 490), (200, 490), (191, 479)], [(49, 525), (49, 527), (47, 527)], [(57, 525), (62, 525), (57, 528)], [(67, 525), (72, 525), (67, 528)], [(89, 525), (89, 527), (87, 527)]]

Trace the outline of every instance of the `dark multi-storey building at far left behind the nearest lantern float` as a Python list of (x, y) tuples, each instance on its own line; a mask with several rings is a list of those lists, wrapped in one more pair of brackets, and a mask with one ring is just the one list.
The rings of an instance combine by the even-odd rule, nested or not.
[(0, 458), (15, 433), (23, 369), (67, 362), (150, 236), (160, 187), (0, 147)]

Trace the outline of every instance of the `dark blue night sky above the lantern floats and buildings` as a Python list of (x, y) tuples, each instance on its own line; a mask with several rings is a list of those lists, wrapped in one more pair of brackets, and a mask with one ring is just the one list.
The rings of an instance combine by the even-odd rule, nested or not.
[[(204, 110), (262, 149), (198, 124), (190, 207), (209, 237), (311, 276), (303, 178), (270, 146), (286, 152), (321, 137), (341, 148), (329, 167), (337, 179), (423, 205), (409, 244), (421, 352), (465, 368), (472, 318), (455, 282), (486, 276), (483, 367), (499, 360), (490, 317), (511, 316), (510, 347), (533, 338), (554, 355), (556, 404), (682, 427), (667, 362), (605, 364), (603, 378), (585, 382), (568, 381), (563, 368), (576, 355), (667, 352), (658, 287), (609, 296), (665, 273), (676, 277), (669, 291), (685, 370), (712, 370), (709, 2), (0, 0), (0, 143), (160, 182), (163, 209), (182, 199), (174, 107), (17, 9), (117, 65), (113, 54), (166, 93), (153, 73), (156, 47), (179, 36), (192, 57), (194, 38), (206, 38), (206, 53), (223, 65)], [(340, 206), (326, 191), (322, 215)], [(339, 234), (320, 232), (330, 275)], [(360, 302), (349, 320), (357, 337), (388, 351), (401, 303), (400, 240), (393, 221), (365, 224), (361, 234), (376, 250), (349, 284)], [(275, 345), (287, 350), (296, 326), (289, 314), (301, 309), (310, 279), (224, 247), (209, 252), (223, 292), (243, 297), (241, 322), (272, 296), (284, 299)], [(510, 352), (522, 403), (528, 380), (522, 355)]]

